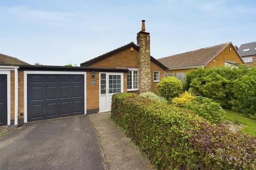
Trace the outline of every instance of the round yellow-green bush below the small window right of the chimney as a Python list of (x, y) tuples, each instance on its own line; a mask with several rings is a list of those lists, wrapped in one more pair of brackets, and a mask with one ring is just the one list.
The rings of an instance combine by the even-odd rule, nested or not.
[(165, 77), (157, 84), (157, 89), (161, 96), (171, 100), (182, 93), (182, 86), (182, 82), (177, 78)]

